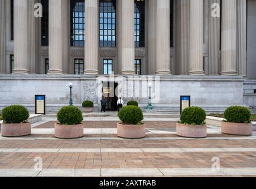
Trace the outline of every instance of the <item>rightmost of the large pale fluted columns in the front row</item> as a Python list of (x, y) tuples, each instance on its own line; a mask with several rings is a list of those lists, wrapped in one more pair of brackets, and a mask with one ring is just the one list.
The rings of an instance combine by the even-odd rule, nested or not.
[(236, 0), (222, 1), (221, 75), (236, 75)]

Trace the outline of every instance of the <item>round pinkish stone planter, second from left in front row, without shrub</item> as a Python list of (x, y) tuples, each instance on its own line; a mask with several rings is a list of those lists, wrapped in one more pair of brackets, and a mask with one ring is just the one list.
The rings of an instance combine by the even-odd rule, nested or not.
[(54, 136), (56, 138), (72, 139), (83, 137), (83, 124), (79, 125), (59, 125), (54, 126)]

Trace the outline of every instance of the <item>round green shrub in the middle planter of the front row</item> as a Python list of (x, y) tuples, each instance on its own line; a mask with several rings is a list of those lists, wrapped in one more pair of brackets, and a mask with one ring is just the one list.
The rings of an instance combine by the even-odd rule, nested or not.
[(144, 119), (142, 110), (138, 106), (122, 107), (118, 112), (118, 117), (125, 124), (138, 124)]

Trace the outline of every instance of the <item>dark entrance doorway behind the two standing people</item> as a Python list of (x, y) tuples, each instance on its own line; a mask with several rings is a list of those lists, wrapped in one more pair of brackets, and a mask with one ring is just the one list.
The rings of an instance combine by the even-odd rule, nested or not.
[(117, 100), (118, 96), (115, 94), (115, 89), (118, 87), (118, 83), (106, 82), (103, 83), (102, 94), (107, 100), (106, 110), (117, 111)]

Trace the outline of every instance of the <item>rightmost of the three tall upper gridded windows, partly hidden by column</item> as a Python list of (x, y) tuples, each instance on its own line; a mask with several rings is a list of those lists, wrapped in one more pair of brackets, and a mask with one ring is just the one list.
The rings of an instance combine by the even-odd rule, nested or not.
[(135, 47), (145, 46), (145, 2), (143, 0), (135, 0), (135, 31), (134, 41)]

